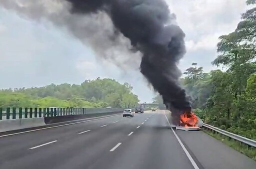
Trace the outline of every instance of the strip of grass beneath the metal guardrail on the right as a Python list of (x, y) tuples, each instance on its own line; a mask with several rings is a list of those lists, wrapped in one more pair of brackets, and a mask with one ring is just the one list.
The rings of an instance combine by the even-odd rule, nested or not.
[(251, 158), (252, 160), (256, 161), (256, 148), (250, 147), (248, 148), (247, 145), (242, 144), (240, 142), (234, 141), (233, 139), (228, 140), (226, 136), (221, 134), (215, 133), (213, 134), (211, 131), (203, 130), (203, 132), (207, 133), (211, 137), (221, 141), (222, 143), (226, 144), (227, 146), (233, 148), (234, 150), (244, 154), (245, 156)]

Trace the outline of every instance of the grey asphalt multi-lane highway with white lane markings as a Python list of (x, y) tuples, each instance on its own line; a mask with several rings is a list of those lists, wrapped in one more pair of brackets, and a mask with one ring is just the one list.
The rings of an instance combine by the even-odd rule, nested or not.
[(171, 130), (169, 115), (115, 115), (3, 135), (0, 169), (256, 169), (201, 131)]

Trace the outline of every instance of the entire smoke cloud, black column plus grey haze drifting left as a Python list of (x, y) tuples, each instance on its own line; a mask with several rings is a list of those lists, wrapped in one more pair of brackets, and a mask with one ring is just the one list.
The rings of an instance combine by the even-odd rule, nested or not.
[(172, 114), (190, 108), (178, 82), (185, 34), (164, 0), (0, 0), (0, 5), (50, 20), (122, 68), (141, 61), (140, 72)]

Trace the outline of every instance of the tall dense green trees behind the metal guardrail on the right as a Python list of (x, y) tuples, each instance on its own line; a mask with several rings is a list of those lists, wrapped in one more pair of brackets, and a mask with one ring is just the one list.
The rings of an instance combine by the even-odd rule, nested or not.
[[(255, 4), (256, 0), (247, 0)], [(256, 7), (241, 16), (237, 28), (219, 37), (212, 64), (225, 71), (204, 73), (196, 63), (181, 79), (196, 114), (205, 123), (256, 140)]]

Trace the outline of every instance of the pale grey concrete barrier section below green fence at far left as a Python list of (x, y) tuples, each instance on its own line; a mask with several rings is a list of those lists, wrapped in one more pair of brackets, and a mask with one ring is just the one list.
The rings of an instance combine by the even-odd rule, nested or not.
[(0, 132), (44, 126), (44, 118), (11, 119), (0, 121)]

